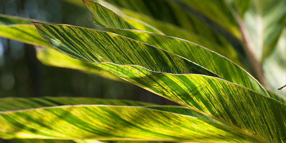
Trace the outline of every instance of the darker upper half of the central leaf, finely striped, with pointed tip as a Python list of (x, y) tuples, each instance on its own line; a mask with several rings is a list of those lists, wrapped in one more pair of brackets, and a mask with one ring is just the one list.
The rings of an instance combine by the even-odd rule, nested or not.
[[(49, 41), (51, 45), (62, 46), (65, 53), (72, 52), (70, 56), (73, 58), (95, 60), (99, 63), (142, 65), (157, 72), (168, 70), (174, 74), (195, 73), (218, 76), (184, 57), (114, 33), (69, 25), (36, 22), (34, 24), (41, 34), (45, 34), (42, 35), (44, 38), (53, 39)], [(86, 47), (86, 49), (79, 51), (75, 47)], [(113, 56), (110, 56), (110, 53), (113, 53)]]

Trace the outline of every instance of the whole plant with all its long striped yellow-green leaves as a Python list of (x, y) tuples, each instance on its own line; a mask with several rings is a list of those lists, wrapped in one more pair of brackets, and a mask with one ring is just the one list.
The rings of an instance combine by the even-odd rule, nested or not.
[(102, 30), (0, 15), (0, 35), (35, 45), (46, 65), (128, 81), (182, 106), (1, 98), (0, 138), (286, 142), (286, 90), (277, 90), (286, 82), (285, 0), (83, 3)]

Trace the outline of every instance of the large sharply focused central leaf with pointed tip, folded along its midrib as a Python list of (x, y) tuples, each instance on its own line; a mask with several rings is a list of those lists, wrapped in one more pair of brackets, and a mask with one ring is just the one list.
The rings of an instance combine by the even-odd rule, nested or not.
[[(286, 105), (281, 102), (215, 77), (168, 74), (146, 69), (144, 67), (151, 64), (147, 65), (149, 61), (159, 64), (160, 67), (175, 56), (170, 54), (166, 59), (160, 57), (163, 52), (159, 52), (155, 55), (160, 58), (150, 60), (153, 58), (150, 49), (155, 47), (145, 48), (149, 46), (120, 35), (68, 25), (41, 23), (35, 25), (39, 33), (50, 41), (52, 47), (64, 54), (85, 60), (146, 90), (215, 118), (262, 142), (285, 140)], [(124, 48), (116, 51), (119, 47)], [(138, 52), (142, 48), (144, 52)], [(146, 52), (150, 54), (147, 56)], [(137, 59), (140, 60), (136, 61)], [(181, 64), (180, 61), (170, 65)], [(137, 65), (126, 65), (134, 63)], [(174, 70), (172, 72), (175, 73)]]

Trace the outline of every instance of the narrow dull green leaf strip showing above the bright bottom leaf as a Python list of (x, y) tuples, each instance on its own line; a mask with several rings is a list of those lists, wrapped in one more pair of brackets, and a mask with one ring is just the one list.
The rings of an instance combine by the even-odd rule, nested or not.
[[(207, 116), (204, 116), (198, 112), (195, 112), (193, 110), (190, 110), (190, 109), (182, 107), (182, 106), (160, 106), (160, 105), (154, 105), (154, 104), (138, 102), (138, 101), (107, 100), (107, 99), (97, 99), (97, 98), (71, 98), (71, 97), (0, 98), (0, 110), (1, 111), (8, 111), (8, 112), (9, 112), (9, 110), (20, 110), (20, 109), (28, 109), (28, 108), (34, 108), (33, 110), (35, 112), (36, 110), (38, 110), (37, 108), (39, 108), (39, 107), (49, 107), (49, 106), (58, 106), (58, 105), (74, 105), (74, 104), (105, 104), (105, 105), (109, 104), (109, 105), (144, 106), (145, 108), (156, 109), (156, 110), (158, 110), (158, 111), (160, 110), (162, 112), (167, 111), (168, 113), (173, 112), (172, 114), (178, 113), (178, 114), (182, 114), (182, 115), (192, 116), (192, 118), (196, 117), (198, 119), (205, 120), (208, 124), (215, 124), (215, 125), (220, 124), (218, 127), (222, 127), (222, 128), (219, 129), (218, 132), (222, 133), (221, 130), (227, 129), (227, 130), (229, 130), (229, 132), (231, 132), (231, 134), (237, 134), (237, 131), (225, 126), (224, 124), (221, 124), (220, 122), (217, 122), (216, 120), (213, 120), (212, 118), (209, 118)], [(95, 105), (95, 106), (98, 106), (98, 105)], [(53, 108), (53, 107), (50, 107), (50, 108)], [(74, 107), (74, 108), (76, 108), (76, 107)], [(29, 109), (29, 110), (31, 110), (31, 109)], [(24, 111), (24, 110), (22, 110), (22, 111)], [(69, 113), (70, 111), (66, 111), (66, 112)], [(3, 113), (5, 113), (5, 112), (3, 112)], [(132, 112), (130, 112), (130, 114), (132, 114)], [(141, 116), (143, 116), (143, 115), (145, 116), (145, 114), (142, 114)], [(49, 115), (46, 115), (46, 116), (48, 117)], [(135, 117), (137, 117), (137, 116), (135, 116)], [(67, 117), (64, 116), (62, 118), (66, 119)], [(161, 118), (165, 118), (165, 117), (161, 117)], [(23, 119), (23, 117), (21, 117), (21, 119)], [(29, 118), (27, 118), (27, 120), (28, 119)], [(62, 119), (62, 120), (64, 120), (64, 119)], [(41, 124), (44, 121), (36, 120), (35, 122), (37, 122), (36, 124)], [(114, 125), (112, 125), (110, 128), (113, 128), (113, 126)], [(19, 127), (17, 127), (17, 128), (19, 128)], [(25, 128), (27, 128), (27, 127), (25, 127)], [(41, 128), (44, 128), (44, 127), (41, 127)], [(124, 127), (122, 127), (122, 128), (124, 128)], [(102, 129), (102, 127), (99, 127), (98, 129)], [(142, 130), (140, 128), (138, 128), (138, 129)], [(24, 129), (22, 129), (22, 130), (24, 130)], [(37, 128), (36, 130), (40, 130), (40, 128)], [(162, 132), (162, 133), (164, 133), (164, 132)], [(17, 133), (10, 132), (10, 134), (13, 135), (13, 134), (17, 134)], [(37, 134), (37, 133), (35, 132), (35, 134)], [(225, 135), (222, 134), (222, 136), (225, 136)], [(50, 136), (46, 136), (43, 138), (50, 138)], [(233, 140), (231, 137), (227, 137), (227, 138), (229, 138), (230, 140)], [(249, 137), (242, 135), (242, 138), (248, 139)], [(249, 141), (251, 141), (251, 140), (252, 139), (250, 139)], [(20, 139), (17, 139), (16, 141), (19, 141), (19, 142), (35, 142), (35, 141), (37, 141), (37, 142), (57, 142), (60, 140), (29, 140), (29, 139), (26, 139), (26, 140), (21, 139), (20, 140)], [(63, 140), (63, 142), (78, 142), (78, 143), (94, 142), (95, 143), (98, 141), (96, 141), (96, 140), (73, 140), (73, 141)]]

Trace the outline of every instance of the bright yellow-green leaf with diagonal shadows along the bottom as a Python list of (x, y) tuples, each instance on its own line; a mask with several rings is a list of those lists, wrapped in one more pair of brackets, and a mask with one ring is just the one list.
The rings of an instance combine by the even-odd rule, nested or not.
[(0, 112), (0, 119), (2, 138), (255, 142), (221, 124), (136, 106), (57, 106)]

